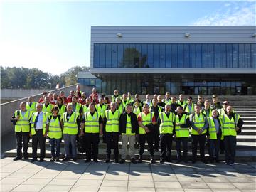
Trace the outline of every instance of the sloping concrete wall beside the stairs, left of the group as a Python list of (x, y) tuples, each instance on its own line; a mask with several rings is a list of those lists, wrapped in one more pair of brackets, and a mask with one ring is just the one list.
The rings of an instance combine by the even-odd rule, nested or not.
[[(79, 84), (70, 85), (68, 87), (63, 87), (58, 90), (50, 90), (48, 92), (59, 94), (59, 92), (63, 90), (65, 92), (65, 95), (68, 96), (70, 90), (75, 90), (76, 85), (79, 85)], [(86, 95), (89, 95), (90, 92), (92, 92), (91, 87), (86, 87), (83, 85), (80, 85), (80, 90), (86, 92)], [(39, 98), (42, 96), (42, 93), (38, 95), (33, 95), (33, 96), (35, 98), (35, 101), (38, 101)], [(6, 102), (0, 105), (1, 106), (1, 137), (3, 137), (5, 134), (8, 134), (9, 132), (14, 132), (14, 125), (12, 124), (10, 119), (11, 119), (11, 116), (14, 114), (14, 111), (19, 108), (19, 105), (22, 101), (27, 102), (28, 97), (24, 97), (22, 99), (14, 100), (11, 102)]]

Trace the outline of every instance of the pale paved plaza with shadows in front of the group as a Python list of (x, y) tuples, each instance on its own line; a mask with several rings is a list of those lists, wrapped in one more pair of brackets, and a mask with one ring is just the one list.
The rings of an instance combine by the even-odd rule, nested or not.
[(1, 191), (256, 191), (256, 162), (105, 164), (1, 159)]

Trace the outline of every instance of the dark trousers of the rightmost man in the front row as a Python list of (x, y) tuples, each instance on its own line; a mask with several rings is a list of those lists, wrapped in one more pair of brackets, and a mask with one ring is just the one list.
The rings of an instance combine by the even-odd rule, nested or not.
[(235, 136), (224, 136), (225, 144), (225, 161), (233, 164), (235, 162), (235, 146), (236, 137)]

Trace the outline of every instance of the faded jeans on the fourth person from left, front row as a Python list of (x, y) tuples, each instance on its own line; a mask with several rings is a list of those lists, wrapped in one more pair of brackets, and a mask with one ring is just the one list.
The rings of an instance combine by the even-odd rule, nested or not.
[(63, 134), (65, 143), (65, 157), (70, 158), (70, 146), (72, 148), (72, 158), (77, 157), (76, 151), (76, 134)]

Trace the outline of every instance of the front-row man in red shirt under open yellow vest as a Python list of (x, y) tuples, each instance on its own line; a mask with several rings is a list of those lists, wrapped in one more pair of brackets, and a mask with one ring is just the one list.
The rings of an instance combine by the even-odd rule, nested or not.
[(145, 142), (148, 143), (148, 150), (150, 153), (150, 161), (152, 164), (156, 162), (154, 159), (154, 127), (156, 124), (156, 117), (154, 112), (149, 111), (149, 105), (143, 105), (143, 111), (138, 115), (139, 123), (139, 160), (138, 163), (142, 163), (142, 154), (144, 153)]

